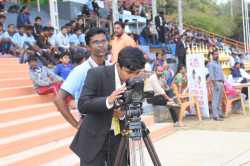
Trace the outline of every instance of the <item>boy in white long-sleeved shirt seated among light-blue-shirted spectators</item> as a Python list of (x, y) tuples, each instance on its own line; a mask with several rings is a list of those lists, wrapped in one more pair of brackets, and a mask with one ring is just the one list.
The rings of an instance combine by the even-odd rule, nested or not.
[(69, 38), (67, 37), (67, 28), (66, 26), (61, 27), (61, 32), (59, 32), (56, 37), (56, 46), (60, 52), (70, 52), (69, 51)]

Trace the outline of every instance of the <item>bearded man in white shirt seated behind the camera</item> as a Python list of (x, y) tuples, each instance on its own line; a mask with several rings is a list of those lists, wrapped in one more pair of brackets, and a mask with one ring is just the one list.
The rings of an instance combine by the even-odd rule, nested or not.
[[(166, 80), (163, 76), (163, 67), (157, 66), (156, 73), (151, 75), (146, 84), (146, 91), (153, 90), (155, 92), (155, 96), (147, 100), (148, 103), (153, 105), (163, 105), (166, 106), (167, 102), (174, 102), (173, 99), (173, 91), (169, 90), (169, 87), (166, 83)], [(172, 119), (174, 121), (175, 127), (184, 126), (183, 123), (179, 122), (177, 117), (177, 113), (173, 108), (169, 108)]]

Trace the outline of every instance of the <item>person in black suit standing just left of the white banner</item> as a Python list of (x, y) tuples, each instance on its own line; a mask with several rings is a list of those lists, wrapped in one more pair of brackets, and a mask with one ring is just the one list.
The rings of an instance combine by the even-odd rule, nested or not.
[(175, 55), (178, 56), (179, 65), (183, 64), (186, 66), (186, 45), (185, 45), (185, 35), (181, 35), (180, 39), (176, 43)]

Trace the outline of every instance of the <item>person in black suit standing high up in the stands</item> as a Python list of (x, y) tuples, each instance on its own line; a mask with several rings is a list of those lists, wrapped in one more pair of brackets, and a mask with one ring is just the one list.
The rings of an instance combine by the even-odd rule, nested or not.
[(164, 12), (161, 11), (159, 16), (155, 17), (155, 26), (158, 31), (159, 42), (165, 43), (165, 18)]

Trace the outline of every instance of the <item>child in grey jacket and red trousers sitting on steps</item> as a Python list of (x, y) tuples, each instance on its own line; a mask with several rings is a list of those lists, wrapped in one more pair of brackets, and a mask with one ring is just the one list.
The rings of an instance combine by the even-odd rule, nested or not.
[[(36, 90), (38, 95), (47, 95), (53, 93), (54, 96), (58, 93), (64, 79), (55, 75), (53, 72), (47, 68), (38, 65), (35, 56), (30, 55), (27, 59), (29, 64), (29, 75), (30, 79), (33, 81), (33, 88)], [(53, 81), (48, 81), (50, 78)], [(69, 108), (75, 108), (70, 104), (70, 97), (66, 99)]]

